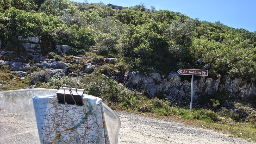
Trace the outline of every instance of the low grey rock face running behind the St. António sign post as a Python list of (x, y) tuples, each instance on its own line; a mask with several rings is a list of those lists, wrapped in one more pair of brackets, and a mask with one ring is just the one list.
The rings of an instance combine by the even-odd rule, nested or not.
[[(229, 76), (218, 76), (214, 80), (205, 76), (194, 79), (193, 99), (200, 95), (214, 95), (217, 92), (226, 91), (235, 98), (247, 98), (255, 96), (255, 79), (250, 83), (242, 81), (242, 78), (232, 80)], [(129, 89), (145, 89), (149, 97), (156, 96), (157, 92), (164, 93), (164, 97), (181, 101), (190, 99), (191, 82), (181, 80), (177, 72), (169, 73), (168, 77), (159, 73), (128, 72), (124, 76), (123, 85)]]

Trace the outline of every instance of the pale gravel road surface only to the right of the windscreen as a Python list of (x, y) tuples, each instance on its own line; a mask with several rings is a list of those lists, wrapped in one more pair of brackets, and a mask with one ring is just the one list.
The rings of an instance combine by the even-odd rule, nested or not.
[(182, 123), (139, 114), (117, 112), (121, 120), (120, 144), (255, 144)]

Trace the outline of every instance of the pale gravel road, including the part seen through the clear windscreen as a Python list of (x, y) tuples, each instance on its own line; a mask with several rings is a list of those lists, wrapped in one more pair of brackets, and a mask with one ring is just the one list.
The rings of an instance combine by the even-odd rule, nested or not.
[[(33, 113), (9, 112), (0, 117), (0, 144), (40, 143)], [(255, 144), (211, 130), (139, 114), (117, 112), (121, 120), (118, 144)]]

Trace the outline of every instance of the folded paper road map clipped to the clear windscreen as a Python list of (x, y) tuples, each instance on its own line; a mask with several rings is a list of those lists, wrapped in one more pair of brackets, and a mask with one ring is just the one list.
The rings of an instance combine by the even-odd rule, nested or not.
[(85, 95), (78, 106), (52, 95), (35, 96), (33, 103), (41, 143), (110, 143), (102, 99)]

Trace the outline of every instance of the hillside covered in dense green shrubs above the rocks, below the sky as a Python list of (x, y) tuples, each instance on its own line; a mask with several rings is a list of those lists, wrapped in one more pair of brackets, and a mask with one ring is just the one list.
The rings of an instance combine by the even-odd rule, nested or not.
[(103, 56), (121, 58), (131, 71), (204, 68), (211, 77), (243, 79), (256, 73), (255, 32), (143, 4), (127, 8), (68, 0), (0, 1), (2, 49), (19, 51), (18, 36), (39, 37), (46, 54), (55, 45), (72, 46), (73, 55), (99, 46)]

